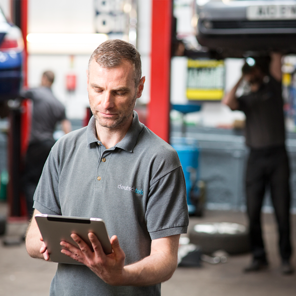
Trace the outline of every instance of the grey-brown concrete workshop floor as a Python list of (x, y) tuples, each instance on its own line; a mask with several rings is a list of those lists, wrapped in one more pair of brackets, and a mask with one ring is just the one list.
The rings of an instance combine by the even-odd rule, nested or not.
[[(0, 214), (6, 206), (0, 203)], [(296, 215), (293, 220), (293, 243), (296, 246)], [(206, 211), (204, 217), (190, 218), (192, 227), (199, 222), (237, 222), (246, 225), (244, 213), (231, 211)], [(283, 276), (277, 248), (274, 216), (263, 215), (264, 235), (269, 255), (268, 270), (244, 274), (250, 254), (230, 256), (227, 263), (211, 265), (203, 263), (200, 268), (178, 268), (173, 277), (162, 284), (162, 296), (295, 296), (296, 274)], [(22, 233), (25, 223), (9, 223), (7, 235)], [(24, 244), (3, 246), (0, 237), (0, 296), (47, 296), (49, 285), (56, 270), (55, 263), (31, 259)], [(296, 256), (293, 257), (296, 267)]]

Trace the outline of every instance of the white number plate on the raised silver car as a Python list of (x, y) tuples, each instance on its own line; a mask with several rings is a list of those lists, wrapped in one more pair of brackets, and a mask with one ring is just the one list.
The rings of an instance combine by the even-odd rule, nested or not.
[(296, 19), (295, 5), (253, 5), (247, 7), (247, 19)]

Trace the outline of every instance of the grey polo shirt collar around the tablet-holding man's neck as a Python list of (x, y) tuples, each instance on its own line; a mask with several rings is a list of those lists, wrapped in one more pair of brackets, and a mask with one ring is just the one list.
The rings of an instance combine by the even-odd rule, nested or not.
[[(110, 149), (115, 149), (117, 147), (129, 152), (133, 152), (138, 140), (138, 136), (144, 127), (144, 125), (139, 121), (139, 116), (136, 111), (133, 112), (133, 117), (134, 119), (132, 125), (130, 126), (126, 136)], [(96, 119), (94, 116), (92, 116), (87, 126), (87, 146), (94, 142), (97, 143), (98, 139), (96, 136)]]

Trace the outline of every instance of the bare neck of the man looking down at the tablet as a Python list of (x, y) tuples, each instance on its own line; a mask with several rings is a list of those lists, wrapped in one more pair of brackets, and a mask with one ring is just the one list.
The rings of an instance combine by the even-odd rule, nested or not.
[(98, 140), (102, 142), (102, 144), (109, 149), (114, 147), (117, 143), (119, 143), (127, 134), (131, 124), (133, 122), (133, 118), (127, 124), (118, 129), (110, 129), (102, 127), (96, 121), (96, 136)]

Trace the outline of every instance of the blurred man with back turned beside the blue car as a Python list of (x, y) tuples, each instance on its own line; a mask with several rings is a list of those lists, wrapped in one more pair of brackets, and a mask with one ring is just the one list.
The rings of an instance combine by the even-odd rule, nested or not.
[(33, 102), (29, 146), (22, 176), (22, 188), (29, 217), (33, 214), (33, 195), (43, 166), (55, 143), (53, 132), (56, 124), (61, 123), (65, 134), (71, 131), (71, 123), (66, 119), (65, 107), (52, 93), (53, 81), (54, 73), (45, 71), (42, 74), (40, 87), (21, 91), (22, 97), (31, 99)]

